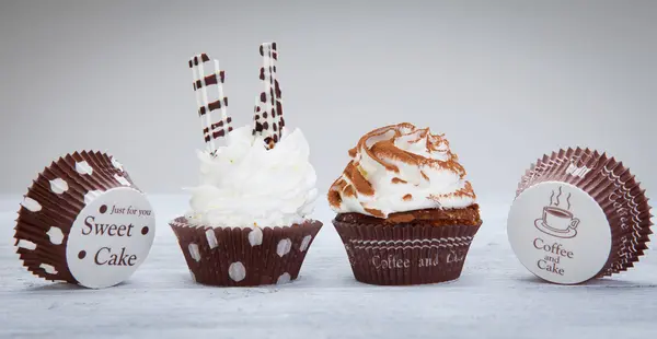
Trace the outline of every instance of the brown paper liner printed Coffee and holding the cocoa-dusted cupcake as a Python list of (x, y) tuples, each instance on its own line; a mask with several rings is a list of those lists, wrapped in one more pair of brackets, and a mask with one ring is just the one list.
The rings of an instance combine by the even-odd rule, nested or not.
[(480, 226), (371, 225), (334, 220), (356, 280), (412, 285), (458, 279)]

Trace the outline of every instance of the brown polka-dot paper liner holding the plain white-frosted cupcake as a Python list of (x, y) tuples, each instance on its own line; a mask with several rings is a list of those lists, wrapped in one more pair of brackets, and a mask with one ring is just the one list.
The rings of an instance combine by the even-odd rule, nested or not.
[(210, 227), (170, 222), (192, 278), (203, 284), (254, 287), (281, 284), (299, 277), (322, 223), (308, 220), (289, 227)]

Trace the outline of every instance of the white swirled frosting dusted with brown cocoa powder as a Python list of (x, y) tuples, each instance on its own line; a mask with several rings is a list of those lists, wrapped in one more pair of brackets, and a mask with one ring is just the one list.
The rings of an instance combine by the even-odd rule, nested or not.
[(419, 209), (457, 209), (475, 203), (465, 170), (441, 135), (399, 124), (365, 135), (351, 161), (328, 190), (337, 213), (377, 218)]

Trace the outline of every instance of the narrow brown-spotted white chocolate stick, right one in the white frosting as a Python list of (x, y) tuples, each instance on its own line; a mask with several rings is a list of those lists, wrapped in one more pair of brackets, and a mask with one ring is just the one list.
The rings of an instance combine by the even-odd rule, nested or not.
[(276, 61), (278, 51), (276, 43), (265, 43), (260, 47), (263, 57), (263, 67), (260, 79), (263, 81), (264, 91), (256, 98), (254, 108), (254, 136), (263, 136), (265, 147), (273, 149), (283, 136), (283, 102), (278, 80), (276, 79)]

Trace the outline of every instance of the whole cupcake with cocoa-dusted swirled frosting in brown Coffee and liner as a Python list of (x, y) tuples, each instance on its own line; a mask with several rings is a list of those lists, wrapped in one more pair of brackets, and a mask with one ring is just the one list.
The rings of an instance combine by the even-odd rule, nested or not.
[(482, 220), (445, 137), (387, 126), (360, 138), (349, 156), (328, 202), (356, 279), (402, 285), (459, 278)]

